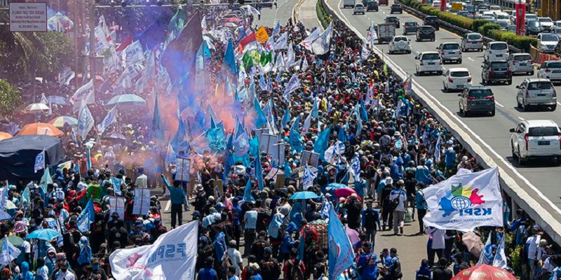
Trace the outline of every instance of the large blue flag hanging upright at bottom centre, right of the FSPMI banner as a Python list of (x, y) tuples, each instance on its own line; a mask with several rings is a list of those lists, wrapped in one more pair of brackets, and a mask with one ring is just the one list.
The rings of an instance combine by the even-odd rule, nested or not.
[(355, 253), (343, 224), (337, 217), (332, 205), (329, 209), (327, 238), (329, 240), (329, 278), (334, 280), (353, 265)]

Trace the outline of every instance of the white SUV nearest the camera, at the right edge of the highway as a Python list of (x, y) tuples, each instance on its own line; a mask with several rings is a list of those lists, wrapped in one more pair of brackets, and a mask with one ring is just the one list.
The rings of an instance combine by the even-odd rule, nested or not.
[(522, 120), (509, 130), (513, 160), (525, 165), (528, 160), (561, 160), (561, 130), (553, 120)]

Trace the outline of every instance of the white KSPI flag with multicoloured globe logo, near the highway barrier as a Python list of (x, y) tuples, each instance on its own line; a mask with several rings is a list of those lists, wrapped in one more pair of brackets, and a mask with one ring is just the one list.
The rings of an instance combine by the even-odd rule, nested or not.
[(503, 226), (503, 198), (499, 169), (457, 174), (423, 190), (428, 214), (426, 226), (441, 230), (473, 230)]

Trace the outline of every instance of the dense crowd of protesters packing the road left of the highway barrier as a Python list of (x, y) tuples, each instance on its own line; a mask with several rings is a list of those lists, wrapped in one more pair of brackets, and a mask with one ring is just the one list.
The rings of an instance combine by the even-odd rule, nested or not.
[[(272, 36), (273, 29), (266, 30)], [(191, 180), (182, 182), (175, 174), (176, 166), (164, 165), (165, 148), (153, 141), (149, 125), (144, 125), (151, 121), (147, 116), (121, 116), (121, 126), (111, 129), (119, 130), (126, 139), (100, 141), (89, 159), (83, 144), (97, 141), (95, 133), (90, 134), (92, 139), (79, 141), (72, 127), (64, 127), (65, 161), (72, 165), (53, 168), (46, 192), (34, 182), (6, 183), (6, 200), (16, 208), (13, 220), (1, 223), (0, 233), (20, 237), (16, 247), (22, 253), (10, 265), (4, 263), (1, 279), (110, 279), (111, 253), (151, 244), (168, 232), (158, 197), (151, 197), (148, 213), (133, 214), (138, 200), (135, 189), (156, 186), (163, 186), (170, 196), (170, 229), (182, 225), (184, 212), (194, 209), (189, 218), (199, 223), (196, 271), (201, 280), (323, 279), (329, 271), (324, 201), (334, 205), (356, 253), (356, 265), (345, 274), (349, 279), (400, 279), (404, 272), (398, 250), (377, 246), (377, 233), (400, 236), (404, 223), (413, 221), (418, 223), (418, 234), (428, 240), (427, 258), (421, 260), (417, 279), (451, 279), (475, 265), (481, 252), (464, 244), (464, 233), (424, 226), (423, 189), (459, 169), (476, 172), (482, 167), (407, 92), (405, 81), (370, 53), (370, 45), (340, 22), (334, 22), (333, 30), (330, 52), (318, 56), (298, 45), (313, 30), (306, 30), (301, 22), (289, 21), (280, 27), (279, 34), (288, 33), (288, 40), (294, 43), (296, 60), (306, 62), (264, 73), (266, 80), (275, 82), (257, 96), (262, 104), (272, 100), (273, 116), (285, 116), (288, 110), (288, 120), (276, 118), (269, 125), (274, 127), (273, 133), (278, 127), (285, 143), (285, 165), (259, 151), (250, 150), (248, 160), (240, 157), (229, 164), (229, 153), (221, 156), (223, 152), (208, 147), (202, 153), (182, 151), (196, 162)], [(211, 50), (213, 79), (226, 45), (217, 41)], [(276, 51), (280, 52), (286, 54), (286, 50)], [(301, 86), (286, 99), (283, 91), (293, 74)], [(242, 78), (243, 83), (252, 83), (249, 76)], [(255, 84), (261, 89), (259, 78)], [(146, 92), (136, 93), (149, 99)], [(306, 123), (314, 107), (318, 116)], [(106, 109), (99, 109), (102, 113), (93, 114), (96, 120), (105, 115)], [(314, 151), (318, 141), (324, 141), (320, 132), (327, 131), (325, 146), (337, 146), (339, 151), (332, 157), (318, 155), (311, 186), (302, 184), (304, 166), (311, 162), (304, 162), (302, 150), (293, 153), (290, 146), (295, 143), (292, 130), (300, 131), (294, 127), (302, 127), (302, 150)], [(250, 138), (255, 133), (252, 130)], [(231, 143), (232, 137), (227, 141)], [(234, 151), (231, 144), (226, 148)], [(255, 166), (257, 162), (261, 167)], [(280, 173), (271, 172), (275, 170)], [(337, 184), (352, 191), (339, 193), (333, 187)], [(218, 193), (216, 186), (222, 186)], [(304, 188), (317, 198), (290, 200)], [(29, 203), (23, 203), (27, 189)], [(116, 196), (124, 199), (123, 215), (109, 209), (109, 200)], [(90, 200), (95, 221), (83, 231), (77, 223)], [(506, 218), (508, 221), (508, 212)], [(60, 232), (60, 237), (26, 239), (46, 228)], [(522, 245), (524, 250), (520, 263), (511, 266), (524, 267), (529, 279), (549, 279), (555, 274), (559, 259), (541, 238), (539, 226), (523, 211), (506, 228), (472, 233), (485, 239), (489, 231), (494, 232), (489, 235), (494, 246), (502, 235), (512, 232), (513, 246)]]

